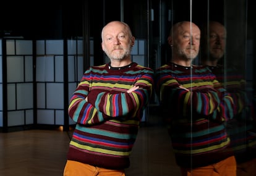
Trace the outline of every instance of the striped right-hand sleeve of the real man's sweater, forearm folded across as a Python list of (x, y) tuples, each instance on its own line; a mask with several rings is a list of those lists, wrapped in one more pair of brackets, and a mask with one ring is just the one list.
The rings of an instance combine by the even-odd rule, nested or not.
[[(126, 91), (132, 86), (139, 86), (139, 89), (132, 93)], [(105, 118), (130, 119), (137, 117), (148, 104), (152, 94), (153, 72), (140, 74), (134, 85), (129, 85), (124, 92), (106, 92), (88, 94), (88, 101), (103, 113)]]

